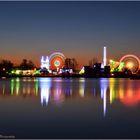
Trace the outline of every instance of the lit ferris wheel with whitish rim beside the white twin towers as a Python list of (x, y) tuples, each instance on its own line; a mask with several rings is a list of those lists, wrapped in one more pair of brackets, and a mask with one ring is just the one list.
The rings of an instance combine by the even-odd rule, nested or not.
[(50, 61), (50, 69), (58, 70), (63, 68), (65, 63), (65, 56), (60, 52), (54, 52), (50, 55), (49, 61)]

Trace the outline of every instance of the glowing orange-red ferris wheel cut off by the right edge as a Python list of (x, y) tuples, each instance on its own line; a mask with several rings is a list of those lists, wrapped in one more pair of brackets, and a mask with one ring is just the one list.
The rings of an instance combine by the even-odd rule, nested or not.
[(140, 60), (137, 56), (128, 54), (120, 59), (124, 63), (124, 68), (129, 69), (132, 73), (136, 73), (140, 69)]

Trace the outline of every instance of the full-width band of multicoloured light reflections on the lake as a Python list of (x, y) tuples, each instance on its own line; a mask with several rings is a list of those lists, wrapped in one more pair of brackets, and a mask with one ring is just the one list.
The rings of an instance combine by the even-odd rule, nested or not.
[(33, 95), (39, 97), (41, 105), (45, 107), (49, 102), (63, 104), (67, 99), (77, 96), (78, 98), (98, 96), (98, 99), (102, 100), (103, 116), (106, 116), (107, 107), (115, 101), (128, 107), (140, 103), (140, 82), (129, 79), (13, 78), (0, 82), (2, 96)]

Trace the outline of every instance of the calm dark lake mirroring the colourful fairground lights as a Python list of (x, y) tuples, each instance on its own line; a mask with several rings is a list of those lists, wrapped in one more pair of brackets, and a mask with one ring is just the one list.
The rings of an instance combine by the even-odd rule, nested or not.
[(140, 138), (140, 80), (0, 80), (0, 135)]

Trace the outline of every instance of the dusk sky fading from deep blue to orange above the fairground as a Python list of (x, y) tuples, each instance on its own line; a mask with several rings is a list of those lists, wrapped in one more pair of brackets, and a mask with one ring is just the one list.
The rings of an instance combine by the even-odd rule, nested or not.
[(0, 59), (39, 65), (60, 51), (79, 65), (140, 53), (140, 2), (0, 2)]

